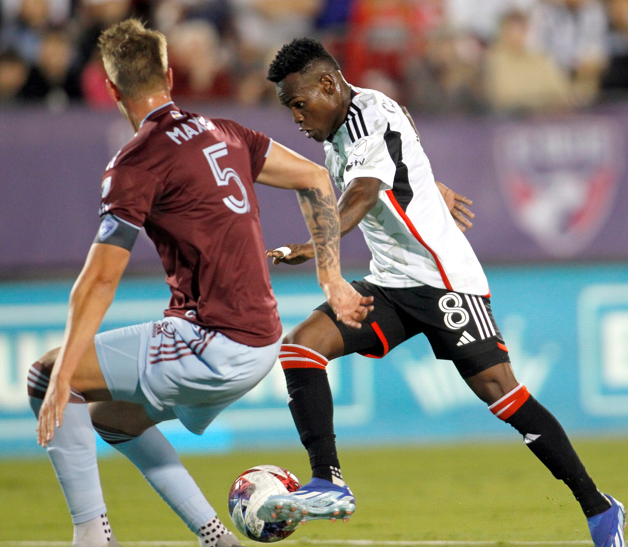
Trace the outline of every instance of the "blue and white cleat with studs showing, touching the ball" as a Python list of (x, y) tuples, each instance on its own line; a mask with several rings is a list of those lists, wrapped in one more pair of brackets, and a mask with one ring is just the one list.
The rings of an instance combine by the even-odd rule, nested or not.
[(271, 495), (257, 511), (266, 522), (348, 521), (355, 511), (355, 498), (347, 485), (339, 486), (322, 478), (313, 478), (300, 490)]

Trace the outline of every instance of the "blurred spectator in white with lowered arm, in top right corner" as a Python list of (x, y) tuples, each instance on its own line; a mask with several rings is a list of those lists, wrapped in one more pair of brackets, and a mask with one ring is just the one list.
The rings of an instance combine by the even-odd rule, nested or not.
[(591, 102), (608, 61), (609, 24), (600, 0), (544, 0), (533, 11), (533, 43), (573, 74), (579, 101)]

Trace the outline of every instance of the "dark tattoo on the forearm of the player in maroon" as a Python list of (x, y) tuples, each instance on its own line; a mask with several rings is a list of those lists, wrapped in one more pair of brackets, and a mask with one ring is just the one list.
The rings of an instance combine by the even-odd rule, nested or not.
[(336, 197), (318, 188), (296, 191), (316, 253), (317, 267), (333, 270), (340, 267), (340, 220)]

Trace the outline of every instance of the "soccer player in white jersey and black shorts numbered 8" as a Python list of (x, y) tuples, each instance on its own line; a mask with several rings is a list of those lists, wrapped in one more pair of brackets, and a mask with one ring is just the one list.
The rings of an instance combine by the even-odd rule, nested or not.
[[(279, 358), (313, 478), (299, 492), (269, 499), (261, 514), (346, 519), (354, 511), (340, 473), (325, 367), (350, 353), (382, 357), (424, 333), (436, 357), (452, 360), (489, 410), (570, 487), (595, 546), (625, 546), (624, 507), (598, 491), (556, 418), (514, 377), (487, 279), (435, 185), (409, 116), (383, 93), (348, 84), (335, 59), (308, 38), (285, 45), (268, 78), (300, 130), (325, 146), (327, 168), (343, 192), (341, 233), (359, 226), (372, 252), (371, 275), (353, 285), (374, 297), (375, 310), (362, 329), (351, 329), (323, 304), (284, 338)], [(267, 254), (288, 264), (314, 256), (311, 243), (289, 246), (287, 256)]]

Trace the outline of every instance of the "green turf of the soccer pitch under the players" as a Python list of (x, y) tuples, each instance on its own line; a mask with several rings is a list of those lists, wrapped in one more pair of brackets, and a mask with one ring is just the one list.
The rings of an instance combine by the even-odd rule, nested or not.
[[(628, 439), (574, 444), (600, 489), (628, 500)], [(342, 450), (341, 457), (357, 499), (355, 516), (347, 524), (310, 522), (291, 539), (589, 539), (569, 490), (522, 443), (354, 449)], [(309, 478), (303, 451), (183, 460), (227, 524), (227, 492), (247, 468), (273, 463)], [(100, 477), (109, 519), (123, 544), (194, 539), (124, 458), (102, 459)], [(68, 541), (71, 531), (50, 463), (0, 460), (0, 540)]]

